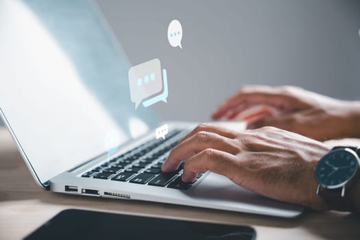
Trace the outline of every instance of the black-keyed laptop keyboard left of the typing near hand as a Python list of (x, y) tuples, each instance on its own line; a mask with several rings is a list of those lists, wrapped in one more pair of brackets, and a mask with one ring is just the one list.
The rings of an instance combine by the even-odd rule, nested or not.
[(166, 140), (148, 141), (93, 168), (91, 171), (84, 173), (82, 177), (148, 184), (171, 189), (189, 189), (192, 184), (201, 178), (202, 173), (193, 182), (182, 182), (181, 174), (184, 163), (174, 172), (164, 173), (161, 171), (161, 165), (165, 162), (168, 152), (180, 141), (182, 137), (180, 133), (179, 130), (173, 130), (167, 134)]

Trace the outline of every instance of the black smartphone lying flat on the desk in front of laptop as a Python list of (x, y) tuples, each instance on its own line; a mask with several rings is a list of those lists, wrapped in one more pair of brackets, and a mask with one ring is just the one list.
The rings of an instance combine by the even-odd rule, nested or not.
[(230, 226), (78, 209), (64, 210), (25, 239), (255, 239), (250, 226)]

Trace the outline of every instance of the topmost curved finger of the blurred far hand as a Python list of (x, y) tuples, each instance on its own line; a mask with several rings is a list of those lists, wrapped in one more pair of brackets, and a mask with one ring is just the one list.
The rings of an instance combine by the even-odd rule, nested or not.
[[(232, 95), (213, 112), (213, 119), (220, 119), (228, 110), (232, 110), (240, 104), (268, 104), (279, 109), (291, 109), (293, 97), (285, 94), (283, 87), (269, 86), (245, 86)], [(292, 103), (292, 104), (291, 104)]]

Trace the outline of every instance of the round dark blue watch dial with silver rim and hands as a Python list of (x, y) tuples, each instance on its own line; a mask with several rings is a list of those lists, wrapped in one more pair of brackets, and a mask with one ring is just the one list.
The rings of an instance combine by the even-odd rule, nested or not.
[(358, 157), (351, 150), (336, 149), (317, 163), (315, 176), (317, 182), (324, 187), (341, 187), (355, 176), (358, 165)]

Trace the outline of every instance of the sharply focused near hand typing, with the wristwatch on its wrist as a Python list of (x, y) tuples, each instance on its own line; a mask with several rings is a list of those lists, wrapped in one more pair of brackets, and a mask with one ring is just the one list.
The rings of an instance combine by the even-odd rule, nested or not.
[(326, 209), (316, 195), (314, 167), (330, 147), (278, 128), (235, 132), (202, 124), (169, 154), (163, 171), (175, 171), (186, 160), (182, 180), (213, 171), (239, 186), (276, 200)]

